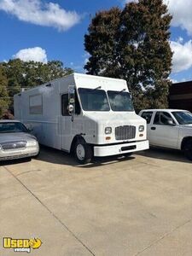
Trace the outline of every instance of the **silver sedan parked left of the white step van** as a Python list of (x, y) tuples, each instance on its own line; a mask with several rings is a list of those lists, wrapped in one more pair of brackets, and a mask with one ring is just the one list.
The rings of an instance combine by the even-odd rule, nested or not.
[(0, 160), (36, 156), (38, 140), (17, 120), (0, 120)]

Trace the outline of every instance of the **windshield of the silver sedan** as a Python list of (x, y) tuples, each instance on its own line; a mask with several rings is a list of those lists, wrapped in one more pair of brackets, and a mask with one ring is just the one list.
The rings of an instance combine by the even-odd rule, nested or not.
[(27, 132), (26, 126), (20, 122), (2, 122), (0, 123), (0, 133), (8, 132)]

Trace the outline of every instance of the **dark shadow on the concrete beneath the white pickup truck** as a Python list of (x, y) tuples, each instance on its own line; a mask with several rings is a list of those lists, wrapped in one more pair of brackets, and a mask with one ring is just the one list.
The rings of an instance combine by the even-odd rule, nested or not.
[(137, 153), (149, 158), (161, 159), (161, 160), (172, 160), (177, 162), (192, 163), (186, 159), (183, 152), (180, 150), (174, 150), (169, 148), (149, 148), (148, 150)]

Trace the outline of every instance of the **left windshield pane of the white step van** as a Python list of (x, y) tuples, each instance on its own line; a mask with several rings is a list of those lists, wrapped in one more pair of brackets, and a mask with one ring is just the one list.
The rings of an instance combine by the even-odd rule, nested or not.
[(85, 111), (109, 111), (108, 98), (105, 90), (79, 88), (82, 108)]

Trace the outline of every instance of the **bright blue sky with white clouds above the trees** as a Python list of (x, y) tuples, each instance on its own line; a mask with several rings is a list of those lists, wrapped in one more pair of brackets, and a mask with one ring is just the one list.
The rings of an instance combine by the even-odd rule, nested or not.
[[(0, 0), (0, 61), (61, 60), (84, 72), (84, 33), (96, 11), (130, 0)], [(174, 82), (192, 80), (192, 0), (164, 0), (172, 19)]]

